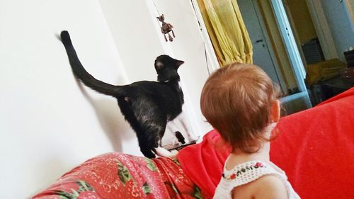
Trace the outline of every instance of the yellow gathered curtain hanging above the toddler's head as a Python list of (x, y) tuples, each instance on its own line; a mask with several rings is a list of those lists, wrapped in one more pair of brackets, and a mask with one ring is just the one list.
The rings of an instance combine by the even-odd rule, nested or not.
[(236, 0), (198, 0), (220, 66), (252, 63), (252, 43)]

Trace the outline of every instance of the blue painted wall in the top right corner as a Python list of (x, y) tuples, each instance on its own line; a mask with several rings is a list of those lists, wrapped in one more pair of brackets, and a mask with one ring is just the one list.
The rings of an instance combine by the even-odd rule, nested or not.
[(354, 25), (350, 21), (346, 1), (321, 0), (333, 36), (339, 59), (345, 61), (343, 52), (354, 47)]

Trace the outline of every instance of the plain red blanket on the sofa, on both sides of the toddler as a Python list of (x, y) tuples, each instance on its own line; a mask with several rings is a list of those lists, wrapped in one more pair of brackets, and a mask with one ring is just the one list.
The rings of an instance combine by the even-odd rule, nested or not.
[[(278, 123), (270, 159), (287, 174), (302, 198), (354, 198), (354, 88)], [(186, 147), (178, 160), (211, 198), (219, 183), (229, 149), (219, 135), (208, 132), (200, 144)]]

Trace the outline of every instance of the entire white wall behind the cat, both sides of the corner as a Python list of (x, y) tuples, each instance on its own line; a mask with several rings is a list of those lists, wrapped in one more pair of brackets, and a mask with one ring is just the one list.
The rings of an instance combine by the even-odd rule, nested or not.
[(104, 15), (97, 0), (0, 0), (0, 198), (28, 198), (98, 154), (141, 155), (115, 99), (74, 79), (57, 39), (64, 29), (86, 69), (111, 84), (156, 79), (154, 58), (166, 51), (183, 59), (193, 123), (200, 134), (210, 129), (199, 110), (204, 49), (188, 2), (157, 1), (175, 26), (166, 46), (141, 0), (102, 0)]

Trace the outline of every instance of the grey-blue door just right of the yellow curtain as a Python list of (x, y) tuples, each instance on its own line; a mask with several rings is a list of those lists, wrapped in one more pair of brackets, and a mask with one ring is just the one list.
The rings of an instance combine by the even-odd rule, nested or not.
[[(249, 36), (253, 45), (253, 64), (261, 67), (270, 78), (278, 84), (282, 91), (285, 89), (285, 83), (282, 74), (278, 68), (278, 64), (271, 55), (270, 45), (267, 44), (265, 38), (266, 31), (263, 30), (261, 23), (261, 13), (258, 13), (252, 0), (238, 0), (242, 18), (249, 31)], [(266, 35), (268, 36), (268, 35)]]

